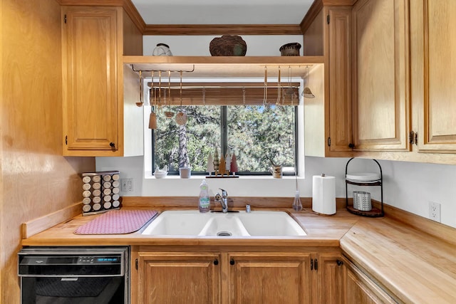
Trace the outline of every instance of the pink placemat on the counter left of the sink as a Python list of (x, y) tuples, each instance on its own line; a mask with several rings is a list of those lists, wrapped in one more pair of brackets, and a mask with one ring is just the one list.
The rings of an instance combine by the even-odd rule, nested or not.
[(80, 226), (75, 234), (130, 234), (157, 214), (153, 210), (111, 210)]

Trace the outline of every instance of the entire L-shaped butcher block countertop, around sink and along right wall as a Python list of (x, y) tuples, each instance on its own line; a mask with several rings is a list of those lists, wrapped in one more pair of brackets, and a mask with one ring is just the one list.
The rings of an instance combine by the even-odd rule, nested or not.
[[(135, 209), (138, 209), (137, 207)], [(157, 209), (155, 209), (157, 210)], [(23, 246), (297, 246), (339, 247), (368, 276), (404, 303), (456, 303), (456, 229), (419, 216), (396, 212), (366, 218), (345, 209), (319, 216), (311, 209), (286, 210), (304, 227), (307, 236), (157, 237), (140, 234), (78, 235), (73, 232), (94, 216), (76, 216), (63, 224), (23, 239)], [(252, 211), (254, 212), (254, 211)], [(400, 219), (398, 221), (397, 219)], [(403, 221), (406, 221), (404, 223)], [(424, 232), (421, 224), (425, 229)], [(410, 226), (413, 225), (413, 226)], [(435, 228), (437, 227), (437, 228)]]

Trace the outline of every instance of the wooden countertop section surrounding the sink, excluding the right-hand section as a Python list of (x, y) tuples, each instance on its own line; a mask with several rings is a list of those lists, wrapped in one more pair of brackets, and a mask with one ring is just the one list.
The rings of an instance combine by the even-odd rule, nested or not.
[[(124, 208), (129, 209), (129, 208)], [(133, 208), (132, 208), (133, 209)], [(138, 209), (138, 208), (135, 208)], [(157, 209), (154, 209), (157, 210)], [(347, 211), (338, 211), (333, 216), (318, 216), (311, 211), (295, 212), (286, 210), (304, 227), (307, 236), (290, 237), (236, 237), (218, 236), (172, 236), (158, 237), (132, 234), (74, 234), (79, 226), (95, 219), (96, 216), (76, 216), (70, 221), (53, 226), (22, 241), (23, 246), (116, 246), (116, 245), (208, 245), (224, 246), (339, 246), (339, 240), (360, 218)], [(252, 211), (254, 212), (254, 211)], [(271, 240), (274, 239), (274, 242)]]

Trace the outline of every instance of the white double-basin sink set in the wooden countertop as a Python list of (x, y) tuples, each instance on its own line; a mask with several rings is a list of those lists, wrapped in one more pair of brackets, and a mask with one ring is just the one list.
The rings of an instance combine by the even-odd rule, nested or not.
[(163, 211), (142, 234), (153, 236), (306, 236), (304, 229), (284, 211), (199, 213), (197, 210)]

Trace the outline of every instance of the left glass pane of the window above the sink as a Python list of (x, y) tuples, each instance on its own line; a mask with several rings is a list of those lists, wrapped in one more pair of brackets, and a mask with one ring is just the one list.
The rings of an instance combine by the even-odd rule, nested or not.
[(179, 167), (190, 166), (192, 172), (206, 172), (207, 157), (214, 153), (214, 147), (220, 147), (220, 107), (182, 107), (182, 112), (187, 114), (187, 123), (182, 126), (177, 125), (175, 117), (166, 118), (164, 114), (169, 110), (177, 113), (180, 109), (166, 106), (157, 110), (157, 129), (152, 138), (154, 167), (167, 164), (170, 172), (178, 172)]

